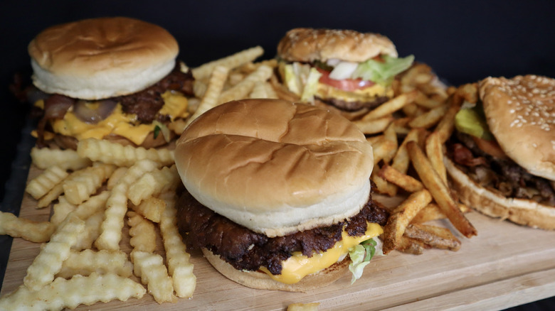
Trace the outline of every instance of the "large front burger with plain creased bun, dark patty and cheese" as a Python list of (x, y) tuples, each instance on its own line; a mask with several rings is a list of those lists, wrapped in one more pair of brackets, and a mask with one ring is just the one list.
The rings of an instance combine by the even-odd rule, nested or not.
[(176, 141), (178, 225), (220, 273), (306, 291), (359, 278), (387, 214), (371, 200), (372, 147), (338, 114), (280, 99), (208, 110)]

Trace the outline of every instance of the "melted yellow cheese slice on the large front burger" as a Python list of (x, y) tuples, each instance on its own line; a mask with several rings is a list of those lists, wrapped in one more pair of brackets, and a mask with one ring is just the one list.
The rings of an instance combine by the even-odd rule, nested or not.
[(346, 231), (342, 232), (342, 240), (338, 241), (334, 247), (324, 251), (323, 253), (315, 253), (312, 257), (302, 255), (295, 252), (290, 258), (282, 262), (282, 271), (280, 275), (273, 275), (267, 268), (261, 267), (271, 278), (281, 283), (294, 284), (299, 282), (306, 275), (317, 273), (334, 263), (349, 253), (349, 249), (353, 246), (361, 244), (361, 242), (379, 236), (384, 229), (379, 224), (368, 223), (366, 232), (362, 236), (349, 236)]

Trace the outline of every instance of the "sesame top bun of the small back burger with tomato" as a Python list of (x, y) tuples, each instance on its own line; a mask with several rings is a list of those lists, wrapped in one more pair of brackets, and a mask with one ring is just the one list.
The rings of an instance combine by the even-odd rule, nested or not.
[(295, 28), (277, 45), (277, 55), (290, 62), (325, 62), (332, 58), (365, 62), (378, 55), (397, 57), (395, 45), (378, 33)]

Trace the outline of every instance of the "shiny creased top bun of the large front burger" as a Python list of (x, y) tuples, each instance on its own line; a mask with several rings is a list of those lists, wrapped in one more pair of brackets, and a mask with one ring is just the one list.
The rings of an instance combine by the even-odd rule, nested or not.
[(374, 167), (372, 147), (354, 124), (279, 99), (206, 111), (181, 134), (175, 161), (196, 200), (270, 237), (357, 214)]

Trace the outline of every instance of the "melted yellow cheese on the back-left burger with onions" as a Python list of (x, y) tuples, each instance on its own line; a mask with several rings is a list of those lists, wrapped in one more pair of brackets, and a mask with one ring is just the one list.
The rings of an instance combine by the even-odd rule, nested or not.
[[(166, 91), (162, 94), (164, 106), (160, 114), (168, 114), (171, 121), (187, 115), (187, 99), (179, 92)], [(56, 133), (73, 136), (78, 140), (86, 138), (102, 139), (113, 133), (123, 136), (137, 145), (141, 145), (151, 131), (154, 124), (137, 124), (135, 114), (124, 114), (120, 104), (117, 104), (112, 114), (97, 124), (88, 124), (78, 119), (72, 111), (65, 113), (63, 119), (55, 120), (52, 128)]]

